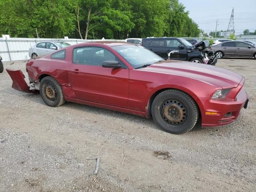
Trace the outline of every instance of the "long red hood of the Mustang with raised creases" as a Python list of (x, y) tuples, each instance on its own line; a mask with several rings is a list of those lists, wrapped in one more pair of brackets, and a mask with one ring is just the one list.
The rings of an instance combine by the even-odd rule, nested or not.
[(243, 78), (240, 74), (216, 66), (176, 60), (161, 61), (140, 70), (186, 76), (222, 88), (237, 87)]

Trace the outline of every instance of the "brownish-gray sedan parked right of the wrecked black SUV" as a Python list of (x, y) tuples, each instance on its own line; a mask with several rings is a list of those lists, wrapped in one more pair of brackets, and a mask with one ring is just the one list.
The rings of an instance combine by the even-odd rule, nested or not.
[(218, 59), (222, 57), (254, 57), (256, 59), (256, 46), (247, 42), (228, 41), (211, 46)]

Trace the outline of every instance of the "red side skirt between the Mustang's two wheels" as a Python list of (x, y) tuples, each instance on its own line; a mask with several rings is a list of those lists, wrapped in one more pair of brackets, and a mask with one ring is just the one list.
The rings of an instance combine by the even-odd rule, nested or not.
[(100, 104), (100, 103), (95, 103), (95, 102), (90, 102), (90, 101), (85, 101), (85, 100), (80, 100), (80, 99), (74, 99), (74, 98), (70, 98), (70, 97), (65, 97), (65, 100), (68, 102), (80, 103), (80, 104), (94, 106), (94, 107), (98, 107), (98, 108), (109, 109), (109, 110), (113, 110), (113, 111), (142, 116), (145, 118), (147, 117), (147, 113), (142, 112), (142, 111), (136, 111), (136, 110), (126, 109), (126, 108), (121, 108), (121, 107), (115, 107), (115, 106), (110, 106), (110, 105), (106, 105), (106, 104)]

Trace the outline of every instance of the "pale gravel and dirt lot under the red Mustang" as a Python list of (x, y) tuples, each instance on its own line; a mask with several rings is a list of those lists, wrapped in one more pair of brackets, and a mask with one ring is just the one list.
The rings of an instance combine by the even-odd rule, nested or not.
[[(4, 68), (26, 74), (26, 61), (10, 63)], [(248, 108), (234, 125), (181, 135), (120, 112), (75, 103), (48, 107), (40, 95), (12, 89), (4, 71), (0, 191), (256, 191), (256, 60), (221, 59), (217, 66), (245, 76)], [(98, 174), (88, 176), (96, 160), (87, 159), (95, 157)]]

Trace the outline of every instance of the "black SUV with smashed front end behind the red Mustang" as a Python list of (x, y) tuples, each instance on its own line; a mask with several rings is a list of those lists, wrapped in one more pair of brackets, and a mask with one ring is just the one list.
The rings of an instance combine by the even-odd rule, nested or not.
[(217, 62), (214, 52), (207, 48), (209, 41), (201, 41), (192, 45), (183, 38), (144, 38), (142, 39), (142, 46), (164, 59), (191, 61), (211, 65), (215, 65)]

